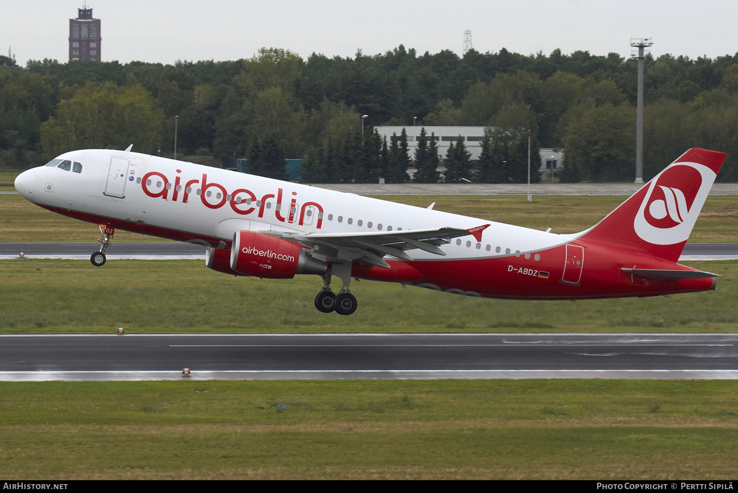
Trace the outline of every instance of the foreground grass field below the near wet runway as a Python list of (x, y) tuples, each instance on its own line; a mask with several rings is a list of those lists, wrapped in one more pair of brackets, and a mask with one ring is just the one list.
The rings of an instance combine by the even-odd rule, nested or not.
[(735, 381), (597, 379), (4, 382), (0, 472), (731, 479), (737, 390)]

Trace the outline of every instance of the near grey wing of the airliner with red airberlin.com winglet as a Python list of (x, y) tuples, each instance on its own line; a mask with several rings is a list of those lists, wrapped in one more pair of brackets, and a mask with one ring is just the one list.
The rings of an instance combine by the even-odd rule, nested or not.
[[(390, 268), (383, 260), (385, 255), (412, 261), (407, 253), (420, 249), (435, 255), (446, 255), (441, 245), (449, 244), (452, 238), (475, 235), (478, 228), (461, 230), (444, 227), (439, 230), (399, 230), (387, 232), (354, 232), (329, 233), (315, 232), (308, 234), (293, 232), (265, 231), (268, 235), (296, 241), (310, 248), (309, 255), (325, 262), (353, 262)], [(483, 228), (482, 228), (483, 230)], [(479, 230), (481, 234), (481, 230)]]

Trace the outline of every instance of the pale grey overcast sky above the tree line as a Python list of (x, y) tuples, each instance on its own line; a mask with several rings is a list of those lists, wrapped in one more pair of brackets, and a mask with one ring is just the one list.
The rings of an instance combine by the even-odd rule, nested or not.
[[(69, 18), (83, 0), (0, 0), (0, 53), (18, 63), (66, 62)], [(738, 3), (707, 1), (449, 0), (89, 0), (102, 19), (103, 61), (236, 60), (261, 47), (307, 58), (353, 57), (399, 44), (419, 53), (461, 54), (463, 30), (480, 52), (546, 54), (555, 48), (630, 55), (629, 38), (652, 37), (655, 56), (734, 55)]]

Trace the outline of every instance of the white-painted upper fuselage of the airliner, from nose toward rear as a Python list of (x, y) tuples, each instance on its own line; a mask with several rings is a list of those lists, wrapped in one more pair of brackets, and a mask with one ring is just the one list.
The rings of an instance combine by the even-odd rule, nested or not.
[[(34, 168), (27, 171), (18, 191), (43, 207), (145, 224), (170, 231), (168, 237), (173, 239), (184, 238), (179, 233), (191, 233), (230, 242), (238, 230), (348, 233), (468, 229), (486, 222), (134, 152), (72, 151), (58, 159), (80, 162), (82, 172)], [(48, 185), (51, 190), (46, 190)], [(482, 241), (469, 236), (441, 248), (446, 252), (444, 260), (489, 258), (547, 249), (568, 238), (493, 222)], [(413, 257), (436, 256), (414, 252)]]

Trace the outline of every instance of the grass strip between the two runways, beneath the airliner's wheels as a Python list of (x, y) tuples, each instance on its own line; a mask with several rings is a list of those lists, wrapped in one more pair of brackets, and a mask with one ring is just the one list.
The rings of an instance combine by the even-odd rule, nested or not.
[(318, 276), (233, 277), (204, 261), (0, 261), (0, 332), (734, 332), (738, 261), (686, 262), (722, 274), (717, 290), (618, 300), (463, 297), (352, 283), (351, 317), (313, 306)]

